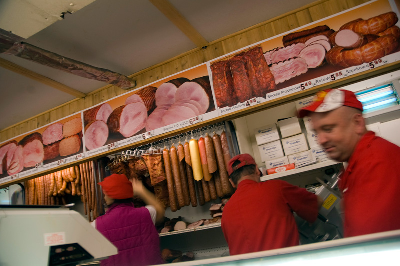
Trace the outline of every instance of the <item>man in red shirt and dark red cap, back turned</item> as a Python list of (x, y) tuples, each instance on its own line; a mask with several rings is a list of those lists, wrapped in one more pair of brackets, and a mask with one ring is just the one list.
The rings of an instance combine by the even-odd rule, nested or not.
[(298, 245), (293, 212), (314, 222), (322, 199), (282, 180), (261, 182), (261, 172), (249, 154), (233, 157), (228, 173), (230, 183), (237, 188), (222, 215), (230, 255)]

